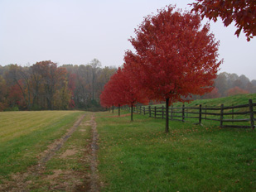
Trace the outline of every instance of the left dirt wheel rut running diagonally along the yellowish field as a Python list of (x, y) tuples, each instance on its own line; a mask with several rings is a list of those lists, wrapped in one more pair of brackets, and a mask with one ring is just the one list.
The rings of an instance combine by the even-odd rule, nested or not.
[(55, 142), (51, 143), (50, 146), (47, 147), (46, 151), (43, 151), (39, 155), (39, 161), (36, 166), (31, 166), (27, 169), (25, 173), (16, 173), (12, 175), (12, 180), (3, 181), (3, 184), (0, 185), (1, 191), (30, 191), (27, 189), (27, 185), (30, 185), (31, 180), (27, 180), (28, 177), (39, 177), (44, 173), (46, 162), (51, 160), (53, 156), (55, 156), (56, 151), (59, 151), (60, 148), (64, 145), (64, 143), (68, 140), (69, 137), (75, 132), (77, 127), (79, 127), (82, 120), (85, 118), (85, 115), (82, 115), (72, 127), (70, 127), (63, 137), (57, 139)]

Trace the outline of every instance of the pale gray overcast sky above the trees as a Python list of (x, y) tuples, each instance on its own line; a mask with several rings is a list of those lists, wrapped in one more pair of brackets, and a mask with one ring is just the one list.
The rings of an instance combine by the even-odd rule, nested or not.
[[(168, 4), (188, 8), (195, 0), (0, 0), (0, 65), (30, 65), (51, 60), (59, 65), (123, 64), (128, 38), (143, 17)], [(206, 21), (206, 20), (205, 20)], [(256, 79), (256, 37), (234, 36), (235, 27), (210, 22), (220, 41), (220, 72)]]

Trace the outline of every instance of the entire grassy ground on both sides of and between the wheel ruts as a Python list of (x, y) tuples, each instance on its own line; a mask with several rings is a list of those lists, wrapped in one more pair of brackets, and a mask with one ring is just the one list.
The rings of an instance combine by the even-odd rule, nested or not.
[[(29, 167), (82, 114), (85, 119), (35, 175)], [(25, 173), (26, 191), (83, 191), (89, 176), (90, 119), (99, 134), (102, 191), (254, 191), (256, 135), (210, 122), (171, 122), (127, 111), (0, 113), (0, 189)], [(12, 189), (13, 190), (13, 189)], [(14, 190), (15, 191), (15, 190)]]

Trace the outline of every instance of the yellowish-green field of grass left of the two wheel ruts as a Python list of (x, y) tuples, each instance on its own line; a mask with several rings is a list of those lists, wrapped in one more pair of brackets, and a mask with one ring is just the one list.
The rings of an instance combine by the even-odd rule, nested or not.
[(83, 112), (0, 113), (0, 177), (35, 165), (41, 151), (62, 137)]

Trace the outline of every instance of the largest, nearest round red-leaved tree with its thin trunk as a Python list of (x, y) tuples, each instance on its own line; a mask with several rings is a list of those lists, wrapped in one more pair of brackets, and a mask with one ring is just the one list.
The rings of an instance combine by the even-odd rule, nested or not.
[(221, 63), (217, 61), (219, 42), (209, 33), (209, 24), (201, 27), (198, 15), (174, 12), (174, 8), (145, 17), (135, 31), (137, 36), (130, 39), (136, 54), (127, 52), (142, 88), (151, 93), (151, 99), (166, 101), (166, 114), (171, 103), (209, 92)]

